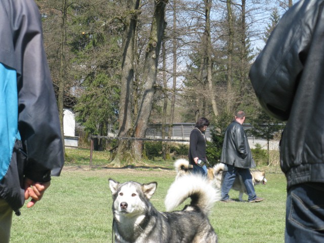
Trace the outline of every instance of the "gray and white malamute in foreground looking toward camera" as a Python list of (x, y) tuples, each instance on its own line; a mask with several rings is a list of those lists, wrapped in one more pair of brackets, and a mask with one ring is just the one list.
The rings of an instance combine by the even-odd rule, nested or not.
[(208, 214), (215, 201), (220, 199), (220, 193), (205, 178), (187, 175), (173, 182), (165, 199), (166, 209), (171, 211), (191, 197), (190, 205), (182, 211), (157, 211), (149, 201), (156, 186), (156, 182), (118, 183), (109, 179), (115, 242), (217, 242)]

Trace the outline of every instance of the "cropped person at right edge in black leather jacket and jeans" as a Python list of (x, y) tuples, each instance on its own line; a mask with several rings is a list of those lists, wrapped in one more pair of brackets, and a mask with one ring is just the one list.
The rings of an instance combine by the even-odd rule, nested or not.
[(286, 242), (324, 242), (324, 1), (302, 0), (271, 33), (250, 70), (260, 104), (287, 120)]

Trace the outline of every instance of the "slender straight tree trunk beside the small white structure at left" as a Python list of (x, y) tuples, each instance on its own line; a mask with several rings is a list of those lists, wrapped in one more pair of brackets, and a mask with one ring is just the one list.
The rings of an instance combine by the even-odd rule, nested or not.
[(62, 0), (62, 26), (61, 26), (61, 54), (60, 54), (60, 77), (59, 77), (59, 92), (58, 92), (58, 109), (61, 123), (61, 136), (64, 146), (64, 126), (63, 126), (63, 108), (64, 108), (64, 87), (65, 87), (65, 39), (66, 39), (66, 0)]

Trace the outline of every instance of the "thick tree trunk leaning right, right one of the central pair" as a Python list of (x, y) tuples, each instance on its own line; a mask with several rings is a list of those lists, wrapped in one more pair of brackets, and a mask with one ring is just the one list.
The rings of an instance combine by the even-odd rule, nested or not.
[[(144, 93), (139, 106), (138, 116), (135, 123), (135, 137), (144, 138), (152, 111), (154, 98), (154, 85), (156, 82), (158, 57), (161, 42), (166, 27), (165, 8), (167, 0), (154, 1), (154, 16), (151, 25), (150, 37), (146, 48), (144, 60)], [(134, 154), (137, 160), (142, 158), (143, 141), (134, 142)]]

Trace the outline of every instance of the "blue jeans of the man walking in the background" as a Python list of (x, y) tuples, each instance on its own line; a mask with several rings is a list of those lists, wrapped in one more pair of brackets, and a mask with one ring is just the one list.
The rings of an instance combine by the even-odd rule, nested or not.
[(253, 186), (253, 181), (252, 181), (252, 175), (249, 169), (245, 169), (245, 168), (238, 168), (238, 167), (234, 167), (231, 165), (226, 165), (227, 166), (227, 172), (223, 172), (226, 173), (224, 180), (223, 180), (223, 184), (222, 184), (222, 188), (221, 188), (221, 196), (222, 196), (222, 200), (227, 200), (229, 199), (229, 190), (231, 189), (235, 178), (236, 178), (236, 174), (238, 173), (243, 181), (244, 181), (244, 185), (247, 188), (247, 193), (248, 193), (248, 200), (253, 200), (256, 198), (256, 194), (254, 191), (254, 186)]

